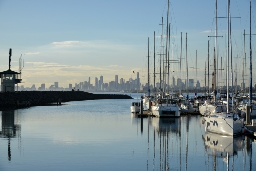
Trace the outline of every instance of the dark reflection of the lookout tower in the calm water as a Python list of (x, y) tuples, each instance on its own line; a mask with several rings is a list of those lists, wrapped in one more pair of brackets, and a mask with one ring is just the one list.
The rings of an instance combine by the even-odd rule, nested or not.
[[(8, 160), (11, 160), (11, 139), (19, 138), (19, 149), (20, 149), (20, 118), (18, 117), (18, 111), (9, 110), (1, 111), (1, 124), (0, 124), (0, 138), (8, 139)], [(18, 122), (19, 121), (19, 122)]]

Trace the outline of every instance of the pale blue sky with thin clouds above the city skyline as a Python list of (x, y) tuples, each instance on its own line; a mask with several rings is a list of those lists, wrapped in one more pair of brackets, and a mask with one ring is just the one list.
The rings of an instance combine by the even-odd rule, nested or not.
[[(3, 1), (0, 0), (0, 70), (8, 68), (8, 49), (12, 48), (11, 70), (19, 70), (19, 58), (24, 59), (22, 85), (38, 88), (59, 82), (68, 87), (82, 81), (94, 83), (95, 77), (104, 77), (104, 83), (119, 79), (129, 81), (140, 73), (141, 83), (148, 76), (148, 38), (150, 49), (150, 84), (155, 68), (160, 72), (161, 34), (166, 47), (167, 0), (94, 0), (94, 1)], [(238, 75), (241, 75), (244, 29), (249, 34), (249, 0), (230, 0), (232, 53), (238, 55)], [(179, 77), (182, 56), (182, 79), (186, 77), (204, 86), (205, 62), (212, 65), (215, 46), (215, 0), (179, 0), (169, 3), (170, 70)], [(217, 60), (226, 66), (227, 2), (219, 1), (217, 8)], [(254, 15), (254, 13), (255, 15)], [(256, 34), (256, 2), (252, 1), (252, 34)], [(163, 17), (163, 33), (162, 33)], [(220, 18), (222, 17), (222, 18)], [(181, 43), (182, 32), (182, 43)], [(187, 43), (186, 43), (187, 33)], [(252, 36), (254, 55), (255, 37)], [(172, 45), (174, 48), (172, 48)], [(181, 50), (182, 49), (182, 50)], [(187, 53), (186, 53), (187, 49)], [(197, 52), (197, 53), (196, 53)], [(249, 57), (249, 36), (245, 35), (246, 58)], [(166, 54), (164, 50), (164, 55)], [(197, 54), (197, 62), (196, 62)], [(252, 55), (252, 65), (255, 58)], [(222, 59), (221, 59), (222, 58)], [(173, 59), (173, 60), (172, 60)], [(223, 61), (222, 64), (220, 61)], [(246, 61), (249, 66), (249, 59)], [(196, 67), (197, 65), (197, 67)], [(22, 63), (23, 66), (23, 63)], [(253, 67), (253, 66), (252, 66)], [(220, 67), (221, 68), (221, 67)], [(231, 70), (231, 69), (230, 69)], [(226, 69), (225, 69), (226, 71)], [(248, 72), (248, 71), (247, 71)], [(255, 73), (255, 72), (254, 72)], [(172, 74), (170, 74), (172, 75)], [(220, 72), (219, 72), (219, 75)], [(226, 79), (224, 70), (222, 79)], [(247, 76), (248, 77), (248, 76)], [(159, 74), (157, 74), (159, 82)], [(241, 77), (239, 78), (241, 82)], [(219, 81), (222, 82), (222, 81)]]

